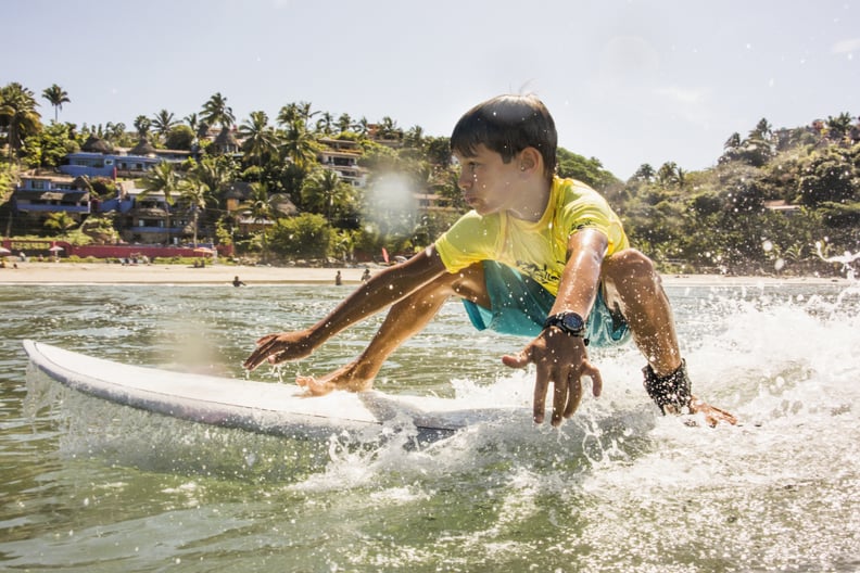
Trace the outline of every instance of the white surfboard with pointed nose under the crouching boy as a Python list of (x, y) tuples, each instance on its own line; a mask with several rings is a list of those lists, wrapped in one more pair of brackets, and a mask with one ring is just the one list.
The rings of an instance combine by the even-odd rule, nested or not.
[(283, 436), (328, 436), (384, 425), (415, 426), (419, 440), (450, 436), (466, 426), (530, 417), (526, 408), (464, 408), (456, 399), (332, 392), (308, 397), (291, 384), (256, 382), (121, 364), (24, 341), (29, 360), (84, 394), (192, 422)]

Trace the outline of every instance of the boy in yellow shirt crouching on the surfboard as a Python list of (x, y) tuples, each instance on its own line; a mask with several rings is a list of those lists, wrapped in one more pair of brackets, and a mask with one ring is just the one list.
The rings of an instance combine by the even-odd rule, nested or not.
[(544, 420), (551, 383), (553, 425), (579, 407), (583, 377), (599, 396), (603, 380), (589, 345), (631, 338), (648, 362), (645, 390), (663, 413), (698, 413), (710, 425), (736, 422), (692, 394), (653, 262), (630, 247), (603, 196), (555, 175), (555, 123), (540, 100), (501, 96), (478, 104), (454, 127), (451, 149), (472, 211), (422, 252), (369, 279), (316, 324), (260, 339), (245, 368), (308, 356), (391, 306), (356, 359), (325, 377), (296, 378), (314, 395), (368, 390), (388, 356), (457, 296), (479, 330), (531, 339), (502, 361), (511, 368), (535, 365), (536, 423)]

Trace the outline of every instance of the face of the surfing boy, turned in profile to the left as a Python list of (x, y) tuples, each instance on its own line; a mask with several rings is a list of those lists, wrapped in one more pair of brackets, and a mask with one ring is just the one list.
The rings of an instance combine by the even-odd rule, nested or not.
[(502, 161), (502, 154), (480, 144), (473, 155), (454, 157), (460, 165), (457, 186), (466, 203), (480, 215), (517, 209), (522, 201), (523, 180), (519, 156)]

